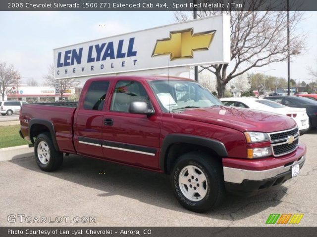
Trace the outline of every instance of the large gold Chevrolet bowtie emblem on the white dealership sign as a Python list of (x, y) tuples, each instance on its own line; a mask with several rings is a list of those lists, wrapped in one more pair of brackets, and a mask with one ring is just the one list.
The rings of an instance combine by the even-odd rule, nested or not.
[(216, 31), (193, 34), (193, 28), (170, 32), (169, 38), (157, 40), (152, 57), (169, 54), (170, 60), (193, 58), (194, 50), (208, 50)]

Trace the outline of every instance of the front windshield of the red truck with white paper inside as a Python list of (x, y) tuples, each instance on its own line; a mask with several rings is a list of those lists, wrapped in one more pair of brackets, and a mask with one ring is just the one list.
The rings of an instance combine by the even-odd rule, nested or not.
[(211, 92), (194, 81), (153, 80), (149, 84), (164, 112), (222, 105)]

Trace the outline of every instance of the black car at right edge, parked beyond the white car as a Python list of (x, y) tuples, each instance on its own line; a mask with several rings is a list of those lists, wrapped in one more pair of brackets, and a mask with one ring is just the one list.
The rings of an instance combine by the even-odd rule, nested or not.
[(310, 128), (317, 127), (317, 101), (297, 96), (269, 96), (264, 97), (288, 107), (305, 108), (309, 117)]

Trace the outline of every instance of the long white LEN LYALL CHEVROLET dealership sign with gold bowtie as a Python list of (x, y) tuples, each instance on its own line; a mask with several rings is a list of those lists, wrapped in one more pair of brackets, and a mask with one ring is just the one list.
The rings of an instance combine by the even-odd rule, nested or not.
[(54, 49), (56, 79), (229, 62), (224, 14)]

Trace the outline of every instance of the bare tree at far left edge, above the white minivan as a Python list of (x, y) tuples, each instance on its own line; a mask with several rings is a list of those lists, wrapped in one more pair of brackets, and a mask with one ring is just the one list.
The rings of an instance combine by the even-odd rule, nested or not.
[(0, 63), (0, 94), (2, 100), (4, 95), (8, 94), (13, 87), (19, 86), (21, 83), (21, 77), (14, 66), (7, 65), (5, 62)]

